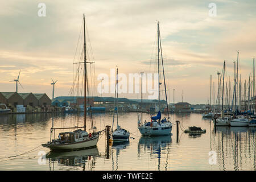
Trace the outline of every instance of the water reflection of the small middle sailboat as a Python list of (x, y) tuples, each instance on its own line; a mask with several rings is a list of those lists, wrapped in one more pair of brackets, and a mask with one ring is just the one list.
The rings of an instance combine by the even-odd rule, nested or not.
[[(122, 142), (113, 142), (112, 144), (112, 171), (117, 171), (118, 169), (118, 156), (120, 154), (120, 151), (122, 150), (126, 150), (127, 146), (130, 145), (130, 141), (129, 140), (125, 140)], [(114, 154), (113, 151), (115, 151), (115, 157), (116, 159), (114, 159)], [(115, 160), (115, 162), (114, 162)], [(115, 163), (115, 165), (114, 165)]]

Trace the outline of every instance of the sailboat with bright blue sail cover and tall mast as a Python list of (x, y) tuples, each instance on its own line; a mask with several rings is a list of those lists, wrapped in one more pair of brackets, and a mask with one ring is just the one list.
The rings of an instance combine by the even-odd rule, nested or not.
[[(160, 44), (160, 45), (159, 45)], [(159, 47), (160, 46), (160, 47)], [(162, 46), (161, 46), (161, 39), (160, 39), (160, 30), (159, 30), (159, 22), (158, 22), (158, 114), (154, 117), (151, 117), (150, 122), (141, 123), (141, 118), (138, 117), (138, 129), (143, 136), (158, 136), (158, 135), (169, 135), (172, 130), (172, 123), (169, 121), (169, 110), (168, 110), (168, 102), (167, 102), (167, 93), (166, 93), (166, 81), (164, 77), (164, 66), (163, 66), (163, 78), (164, 78), (164, 90), (166, 94), (166, 105), (167, 105), (167, 114), (168, 118), (161, 119), (161, 112), (160, 112), (160, 75), (159, 75), (159, 68), (160, 68), (160, 51), (161, 51), (161, 58), (162, 58), (162, 66), (163, 66), (163, 54), (162, 54)]]

